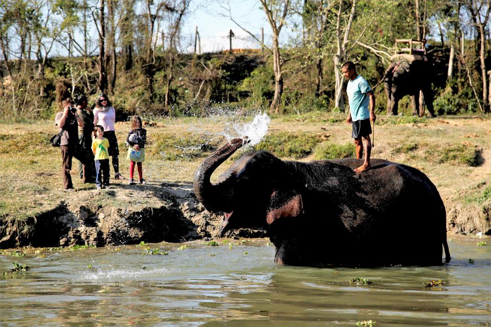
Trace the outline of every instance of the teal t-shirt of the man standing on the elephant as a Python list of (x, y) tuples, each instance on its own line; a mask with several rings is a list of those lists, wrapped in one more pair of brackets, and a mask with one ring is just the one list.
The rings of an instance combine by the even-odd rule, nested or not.
[(371, 91), (370, 85), (360, 75), (356, 76), (354, 80), (348, 81), (346, 93), (348, 94), (349, 110), (353, 122), (370, 118), (368, 91)]

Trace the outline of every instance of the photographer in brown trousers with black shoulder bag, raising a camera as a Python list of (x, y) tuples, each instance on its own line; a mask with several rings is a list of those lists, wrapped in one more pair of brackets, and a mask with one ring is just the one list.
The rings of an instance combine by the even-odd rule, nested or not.
[[(63, 111), (56, 114), (55, 125), (59, 128), (61, 134), (61, 175), (63, 177), (63, 188), (65, 191), (73, 191), (72, 177), (72, 158), (75, 157), (82, 165), (90, 164), (86, 151), (78, 143), (78, 127), (83, 127), (82, 118), (76, 113), (75, 103), (72, 99), (67, 98), (62, 102)], [(84, 182), (87, 176), (83, 172)]]

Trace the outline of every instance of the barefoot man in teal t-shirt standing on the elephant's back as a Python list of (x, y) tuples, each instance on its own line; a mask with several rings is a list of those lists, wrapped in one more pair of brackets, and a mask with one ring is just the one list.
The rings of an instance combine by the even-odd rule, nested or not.
[(363, 165), (354, 171), (359, 173), (370, 169), (370, 153), (372, 142), (370, 134), (372, 128), (370, 121), (375, 122), (375, 96), (368, 82), (356, 73), (353, 62), (347, 61), (342, 67), (344, 77), (348, 80), (346, 93), (348, 94), (349, 110), (346, 123), (352, 125), (351, 135), (356, 146), (356, 158), (361, 159), (364, 153)]

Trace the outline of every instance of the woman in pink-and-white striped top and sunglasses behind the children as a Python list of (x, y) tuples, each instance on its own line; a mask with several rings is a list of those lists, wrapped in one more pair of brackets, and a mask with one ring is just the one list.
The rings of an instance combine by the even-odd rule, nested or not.
[(124, 179), (119, 173), (119, 148), (118, 139), (114, 132), (116, 110), (111, 105), (109, 98), (103, 93), (99, 96), (94, 108), (94, 126), (101, 125), (104, 128), (104, 137), (109, 140), (109, 156), (113, 158), (114, 178)]

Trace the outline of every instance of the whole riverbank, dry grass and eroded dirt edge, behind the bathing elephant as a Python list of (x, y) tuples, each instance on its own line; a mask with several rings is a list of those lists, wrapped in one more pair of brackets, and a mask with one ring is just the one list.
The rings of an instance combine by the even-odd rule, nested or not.
[[(193, 175), (203, 158), (226, 142), (224, 131), (230, 131), (231, 124), (251, 121), (251, 116), (230, 115), (151, 122), (146, 127), (146, 185), (111, 179), (111, 189), (96, 190), (95, 185), (78, 179), (74, 160), (76, 192), (71, 193), (60, 190), (59, 149), (48, 143), (56, 132), (51, 121), (0, 123), (0, 247), (104, 246), (216, 237), (221, 216), (208, 213), (198, 203), (192, 191)], [(128, 162), (123, 150), (129, 124), (118, 123), (116, 128), (125, 173)], [(282, 159), (308, 161), (349, 155), (350, 136), (342, 115), (283, 116), (272, 120), (257, 147), (271, 149)], [(416, 167), (430, 177), (447, 208), (449, 235), (491, 234), (489, 116), (379, 115), (374, 143), (372, 157)], [(235, 158), (219, 167), (212, 179)], [(418, 203), (418, 199), (407, 200), (411, 205)], [(264, 231), (239, 230), (234, 235), (262, 237)]]

